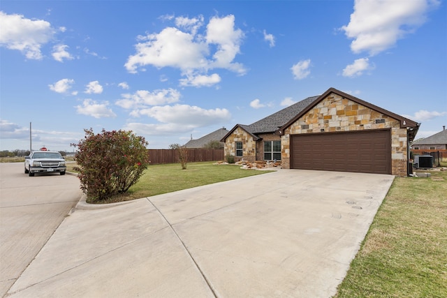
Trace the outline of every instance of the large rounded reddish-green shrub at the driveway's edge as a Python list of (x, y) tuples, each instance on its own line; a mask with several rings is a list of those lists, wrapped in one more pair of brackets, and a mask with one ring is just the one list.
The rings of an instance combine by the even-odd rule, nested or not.
[(147, 142), (131, 131), (105, 131), (94, 134), (85, 129), (78, 144), (73, 170), (78, 171), (81, 189), (91, 200), (105, 200), (125, 193), (149, 165)]

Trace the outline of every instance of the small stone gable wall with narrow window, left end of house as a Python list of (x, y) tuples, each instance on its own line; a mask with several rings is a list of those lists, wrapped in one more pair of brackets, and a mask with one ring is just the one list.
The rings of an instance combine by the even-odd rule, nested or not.
[(244, 161), (253, 162), (256, 160), (256, 141), (253, 137), (238, 127), (225, 140), (224, 154), (225, 156), (235, 156), (235, 161), (240, 161), (242, 158), (236, 157), (236, 142), (242, 142), (242, 158)]

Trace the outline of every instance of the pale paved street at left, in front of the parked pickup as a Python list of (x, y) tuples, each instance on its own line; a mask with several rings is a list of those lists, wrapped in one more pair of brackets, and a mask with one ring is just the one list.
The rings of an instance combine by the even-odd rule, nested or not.
[(0, 297), (17, 281), (82, 195), (77, 177), (24, 174), (0, 163)]

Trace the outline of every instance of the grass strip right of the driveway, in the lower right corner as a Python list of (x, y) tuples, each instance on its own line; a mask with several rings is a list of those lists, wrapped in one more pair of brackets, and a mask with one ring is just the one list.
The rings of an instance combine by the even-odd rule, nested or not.
[(395, 178), (335, 297), (447, 297), (447, 171), (430, 173)]

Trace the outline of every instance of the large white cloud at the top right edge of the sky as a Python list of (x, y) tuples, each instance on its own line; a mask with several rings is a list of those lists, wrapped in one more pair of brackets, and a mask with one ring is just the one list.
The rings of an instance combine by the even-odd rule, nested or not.
[(341, 29), (353, 38), (354, 53), (378, 54), (413, 33), (425, 22), (427, 10), (439, 4), (437, 0), (356, 0), (349, 24)]

